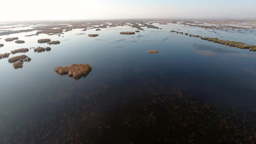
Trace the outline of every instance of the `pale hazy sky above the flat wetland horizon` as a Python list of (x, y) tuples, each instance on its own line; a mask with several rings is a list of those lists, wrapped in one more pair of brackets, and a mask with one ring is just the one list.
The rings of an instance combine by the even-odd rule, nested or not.
[(0, 21), (256, 19), (256, 0), (1, 0)]

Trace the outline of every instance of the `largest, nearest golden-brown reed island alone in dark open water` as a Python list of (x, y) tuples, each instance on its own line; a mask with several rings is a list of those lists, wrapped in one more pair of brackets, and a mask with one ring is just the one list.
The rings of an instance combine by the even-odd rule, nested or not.
[(70, 66), (56, 67), (55, 72), (60, 75), (69, 75), (75, 79), (87, 76), (91, 72), (92, 67), (89, 64), (72, 64)]

